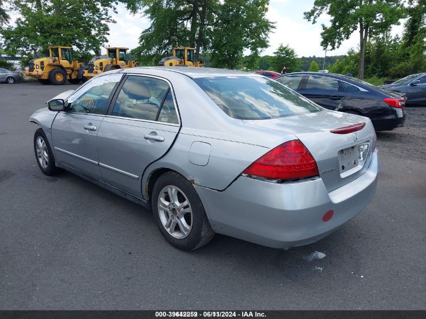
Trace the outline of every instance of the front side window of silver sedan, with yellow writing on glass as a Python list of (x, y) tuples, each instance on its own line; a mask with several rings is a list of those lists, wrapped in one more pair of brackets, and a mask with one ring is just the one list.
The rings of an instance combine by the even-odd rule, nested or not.
[(121, 74), (99, 77), (87, 82), (68, 98), (68, 111), (90, 114), (105, 114), (108, 98)]

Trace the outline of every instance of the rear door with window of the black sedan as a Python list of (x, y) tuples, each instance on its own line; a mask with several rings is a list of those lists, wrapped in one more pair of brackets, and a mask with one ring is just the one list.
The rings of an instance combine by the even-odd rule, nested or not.
[(341, 81), (317, 75), (309, 75), (298, 92), (329, 110), (340, 107), (346, 97)]

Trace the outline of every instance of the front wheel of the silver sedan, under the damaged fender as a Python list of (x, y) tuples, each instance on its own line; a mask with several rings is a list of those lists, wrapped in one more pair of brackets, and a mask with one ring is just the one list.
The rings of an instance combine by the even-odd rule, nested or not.
[(43, 174), (53, 176), (62, 172), (62, 169), (55, 166), (52, 150), (42, 129), (34, 133), (34, 154)]

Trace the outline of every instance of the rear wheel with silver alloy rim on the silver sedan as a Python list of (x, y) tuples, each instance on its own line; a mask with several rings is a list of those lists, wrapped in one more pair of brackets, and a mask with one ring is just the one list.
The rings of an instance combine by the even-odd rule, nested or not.
[[(170, 200), (169, 194), (174, 200)], [(215, 234), (194, 186), (176, 172), (164, 173), (156, 180), (152, 211), (161, 234), (181, 250), (200, 248)]]

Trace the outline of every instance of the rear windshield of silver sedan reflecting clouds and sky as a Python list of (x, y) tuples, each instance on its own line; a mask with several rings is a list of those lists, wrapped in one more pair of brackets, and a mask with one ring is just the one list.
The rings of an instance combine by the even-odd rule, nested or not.
[(269, 119), (322, 110), (281, 83), (264, 77), (214, 77), (194, 81), (233, 118)]

